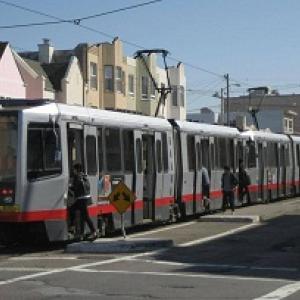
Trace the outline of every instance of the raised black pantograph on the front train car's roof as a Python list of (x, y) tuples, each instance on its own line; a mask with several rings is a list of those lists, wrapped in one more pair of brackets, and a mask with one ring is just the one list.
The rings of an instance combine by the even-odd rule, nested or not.
[[(167, 84), (168, 84), (167, 87), (163, 86), (163, 85), (161, 87), (159, 87), (157, 82), (155, 81), (155, 78), (153, 77), (153, 75), (148, 67), (148, 64), (145, 60), (145, 55), (150, 55), (150, 54), (161, 54), (162, 55), (165, 71), (167, 74)], [(157, 115), (158, 115), (160, 106), (162, 104), (165, 105), (166, 98), (167, 98), (168, 94), (171, 93), (171, 91), (172, 91), (171, 84), (170, 84), (169, 70), (168, 70), (168, 66), (167, 66), (167, 62), (166, 62), (166, 56), (168, 54), (169, 54), (169, 52), (164, 49), (150, 49), (150, 50), (138, 50), (134, 55), (134, 58), (140, 58), (142, 60), (144, 66), (151, 78), (151, 81), (154, 85), (155, 90), (160, 94), (160, 97), (159, 97), (159, 100), (157, 103), (157, 107), (155, 110), (155, 117), (157, 117)]]

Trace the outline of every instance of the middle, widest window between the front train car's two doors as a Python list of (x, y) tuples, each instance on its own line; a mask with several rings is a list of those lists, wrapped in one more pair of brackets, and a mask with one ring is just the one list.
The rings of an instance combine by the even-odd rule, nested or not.
[(105, 129), (106, 164), (108, 171), (121, 170), (121, 143), (120, 130)]

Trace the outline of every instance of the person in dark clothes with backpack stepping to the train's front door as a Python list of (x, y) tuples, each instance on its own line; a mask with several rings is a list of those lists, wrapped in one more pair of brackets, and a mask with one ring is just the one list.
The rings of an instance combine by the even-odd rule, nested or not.
[(96, 239), (97, 233), (94, 227), (94, 224), (88, 213), (88, 205), (91, 202), (90, 195), (90, 184), (86, 174), (83, 173), (82, 165), (77, 163), (73, 167), (73, 181), (71, 184), (71, 191), (74, 194), (75, 202), (70, 207), (70, 223), (71, 226), (74, 226), (75, 214), (76, 211), (80, 212), (80, 239), (84, 237), (84, 227), (87, 223), (90, 234), (89, 238)]

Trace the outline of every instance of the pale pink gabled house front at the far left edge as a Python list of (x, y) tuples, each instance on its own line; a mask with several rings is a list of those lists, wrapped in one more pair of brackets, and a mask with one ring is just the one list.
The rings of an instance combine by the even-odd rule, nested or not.
[(25, 98), (26, 90), (8, 42), (0, 42), (0, 98)]

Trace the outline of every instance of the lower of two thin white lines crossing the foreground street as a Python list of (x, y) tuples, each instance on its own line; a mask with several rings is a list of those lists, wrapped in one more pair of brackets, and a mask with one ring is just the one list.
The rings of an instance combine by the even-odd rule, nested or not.
[[(75, 271), (75, 270), (74, 270)], [(187, 274), (176, 272), (135, 272), (127, 270), (95, 270), (95, 269), (80, 269), (76, 270), (86, 273), (111, 273), (111, 274), (128, 274), (128, 275), (150, 275), (150, 276), (172, 276), (172, 277), (191, 277), (191, 278), (207, 278), (207, 279), (228, 279), (228, 280), (243, 280), (243, 281), (263, 281), (263, 282), (293, 282), (284, 279), (260, 278), (260, 277), (245, 277), (245, 276), (230, 276), (230, 275), (210, 275), (210, 274)]]

